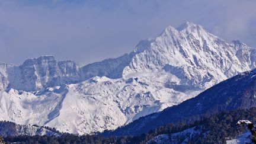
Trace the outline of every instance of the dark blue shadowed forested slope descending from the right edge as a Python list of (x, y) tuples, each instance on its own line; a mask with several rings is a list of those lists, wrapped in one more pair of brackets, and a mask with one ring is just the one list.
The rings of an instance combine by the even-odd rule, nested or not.
[(127, 124), (107, 135), (139, 135), (168, 123), (188, 123), (205, 114), (256, 107), (256, 69), (233, 76), (197, 97)]

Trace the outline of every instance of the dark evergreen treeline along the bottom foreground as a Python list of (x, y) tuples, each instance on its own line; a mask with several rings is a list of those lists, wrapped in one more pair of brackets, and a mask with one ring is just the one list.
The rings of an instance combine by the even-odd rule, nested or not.
[(241, 119), (256, 121), (256, 108), (212, 114), (190, 124), (167, 124), (140, 136), (104, 137), (101, 134), (78, 136), (63, 133), (60, 137), (16, 136), (5, 137), (4, 140), (6, 143), (146, 143), (158, 135), (171, 135), (171, 133), (181, 132), (191, 127), (200, 127), (200, 133), (193, 137), (177, 135), (175, 142), (177, 140), (183, 142), (189, 137), (187, 143), (225, 143), (227, 139), (233, 139), (245, 132), (246, 126), (236, 126), (236, 122)]

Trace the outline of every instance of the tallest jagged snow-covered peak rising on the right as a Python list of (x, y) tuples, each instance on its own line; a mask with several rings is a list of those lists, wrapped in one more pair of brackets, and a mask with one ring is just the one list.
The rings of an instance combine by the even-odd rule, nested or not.
[[(244, 60), (236, 57), (233, 49), (232, 44), (208, 33), (200, 25), (187, 22), (177, 29), (168, 26), (156, 39), (140, 41), (136, 47), (139, 53), (124, 68), (123, 76), (169, 65), (171, 73), (181, 79), (181, 85), (207, 88), (220, 79), (254, 68), (251, 62), (241, 63)], [(254, 59), (254, 56), (249, 57)]]

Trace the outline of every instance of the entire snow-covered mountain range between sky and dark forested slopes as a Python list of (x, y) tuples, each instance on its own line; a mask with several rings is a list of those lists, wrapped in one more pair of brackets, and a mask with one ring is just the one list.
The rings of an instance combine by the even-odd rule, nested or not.
[(255, 68), (255, 49), (200, 25), (168, 26), (133, 52), (83, 67), (52, 56), (0, 64), (0, 120), (91, 133), (180, 104)]

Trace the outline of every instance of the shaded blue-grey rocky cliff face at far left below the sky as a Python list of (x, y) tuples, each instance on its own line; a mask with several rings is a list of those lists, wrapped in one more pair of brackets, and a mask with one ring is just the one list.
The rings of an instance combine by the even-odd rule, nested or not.
[(2, 64), (3, 89), (14, 88), (24, 91), (71, 84), (80, 81), (79, 69), (75, 62), (57, 62), (53, 56), (28, 59), (20, 66)]

